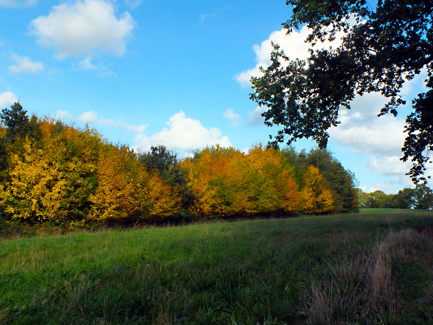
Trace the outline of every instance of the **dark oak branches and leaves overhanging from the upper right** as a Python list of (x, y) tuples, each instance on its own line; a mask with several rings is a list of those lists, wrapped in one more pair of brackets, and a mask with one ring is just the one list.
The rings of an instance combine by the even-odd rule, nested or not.
[(310, 28), (306, 42), (333, 40), (336, 48), (310, 50), (305, 60), (291, 59), (273, 44), (271, 65), (262, 77), (252, 77), (251, 99), (268, 110), (265, 124), (281, 129), (268, 143), (301, 138), (325, 148), (331, 126), (337, 126), (341, 108), (350, 109), (356, 94), (378, 92), (388, 98), (378, 116), (397, 115), (406, 101), (399, 95), (405, 81), (427, 69), (427, 91), (412, 101), (406, 118), (403, 157), (413, 166), (407, 173), (415, 183), (426, 182), (426, 163), (433, 149), (433, 1), (288, 0), (291, 18), (283, 23), (287, 33), (304, 24)]

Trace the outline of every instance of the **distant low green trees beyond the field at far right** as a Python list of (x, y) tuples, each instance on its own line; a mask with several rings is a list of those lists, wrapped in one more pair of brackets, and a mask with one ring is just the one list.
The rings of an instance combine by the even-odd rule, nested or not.
[(382, 191), (365, 193), (359, 190), (358, 197), (361, 208), (433, 208), (433, 192), (424, 184), (418, 184), (415, 188), (403, 188), (397, 194), (386, 194)]

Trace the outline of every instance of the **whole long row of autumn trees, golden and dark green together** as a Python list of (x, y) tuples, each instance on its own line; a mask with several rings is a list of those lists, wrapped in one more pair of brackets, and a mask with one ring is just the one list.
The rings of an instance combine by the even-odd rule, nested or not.
[(165, 146), (137, 153), (96, 130), (29, 117), (19, 103), (2, 112), (0, 227), (358, 209), (354, 175), (326, 150), (212, 146), (179, 159)]

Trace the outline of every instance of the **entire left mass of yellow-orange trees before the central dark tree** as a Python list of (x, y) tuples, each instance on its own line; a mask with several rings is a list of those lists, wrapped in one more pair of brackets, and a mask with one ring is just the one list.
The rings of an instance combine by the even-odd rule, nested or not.
[[(88, 128), (38, 121), (38, 137), (6, 145), (0, 208), (11, 220), (58, 226), (171, 218), (178, 191), (150, 175), (135, 153)], [(4, 174), (4, 173), (3, 173)]]

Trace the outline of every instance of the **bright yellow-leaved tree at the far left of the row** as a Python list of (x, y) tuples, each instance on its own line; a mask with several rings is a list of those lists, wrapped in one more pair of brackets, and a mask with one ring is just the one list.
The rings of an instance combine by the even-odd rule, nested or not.
[(13, 219), (60, 224), (77, 213), (91, 191), (83, 176), (92, 174), (95, 165), (71, 152), (68, 138), (77, 136), (77, 130), (53, 134), (52, 120), (42, 121), (39, 129), (38, 143), (27, 136), (7, 146), (9, 177), (0, 189), (0, 204)]

